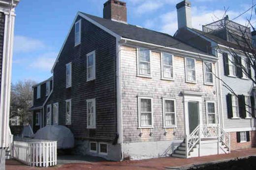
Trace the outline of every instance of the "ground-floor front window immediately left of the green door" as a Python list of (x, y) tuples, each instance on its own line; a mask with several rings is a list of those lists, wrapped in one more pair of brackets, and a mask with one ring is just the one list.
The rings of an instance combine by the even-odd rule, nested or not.
[(175, 100), (163, 98), (163, 127), (176, 127)]

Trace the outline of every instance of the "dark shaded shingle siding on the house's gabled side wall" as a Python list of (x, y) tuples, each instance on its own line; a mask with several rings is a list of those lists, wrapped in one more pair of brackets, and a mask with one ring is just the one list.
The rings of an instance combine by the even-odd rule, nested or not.
[[(77, 21), (80, 19), (81, 44), (74, 47), (73, 26), (54, 68), (53, 93), (47, 104), (59, 102), (59, 124), (65, 125), (65, 100), (71, 99), (71, 125), (66, 126), (75, 138), (113, 140), (116, 134), (116, 39), (81, 17)], [(94, 50), (96, 79), (87, 82), (86, 54)], [(69, 62), (72, 63), (72, 86), (66, 88), (65, 65)], [(96, 129), (90, 130), (87, 129), (86, 100), (92, 98), (96, 98)]]

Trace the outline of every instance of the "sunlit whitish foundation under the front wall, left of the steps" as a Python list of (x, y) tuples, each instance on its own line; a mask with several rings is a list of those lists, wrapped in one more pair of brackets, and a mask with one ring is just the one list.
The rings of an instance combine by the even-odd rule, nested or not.
[(124, 158), (141, 160), (170, 156), (182, 142), (183, 140), (125, 143)]

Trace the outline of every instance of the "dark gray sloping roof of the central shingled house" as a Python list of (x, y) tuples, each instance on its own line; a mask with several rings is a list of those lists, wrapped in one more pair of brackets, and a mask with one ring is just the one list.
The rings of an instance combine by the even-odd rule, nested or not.
[(83, 12), (81, 13), (123, 38), (209, 55), (199, 49), (195, 49), (190, 45), (185, 44), (184, 42), (181, 42), (169, 34), (138, 27), (136, 25), (103, 19)]

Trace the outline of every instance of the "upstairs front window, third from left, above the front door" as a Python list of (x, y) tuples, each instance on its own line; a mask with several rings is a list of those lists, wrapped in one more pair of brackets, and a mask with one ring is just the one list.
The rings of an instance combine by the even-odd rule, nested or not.
[(193, 58), (186, 58), (186, 78), (187, 82), (196, 82), (195, 59)]

